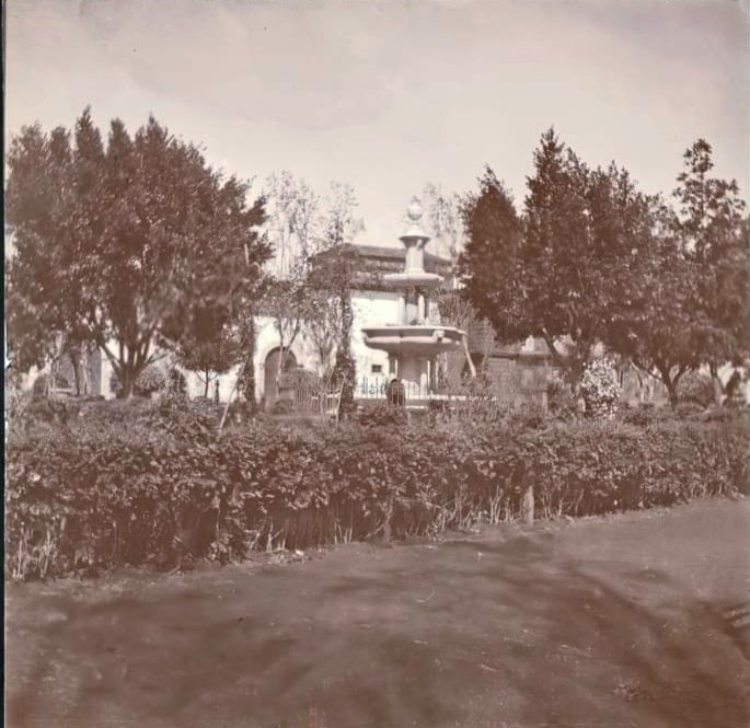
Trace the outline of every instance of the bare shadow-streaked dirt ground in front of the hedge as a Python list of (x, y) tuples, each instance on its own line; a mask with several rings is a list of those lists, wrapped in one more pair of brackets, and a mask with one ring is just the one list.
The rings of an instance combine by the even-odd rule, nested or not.
[(750, 501), (9, 585), (7, 725), (746, 728)]

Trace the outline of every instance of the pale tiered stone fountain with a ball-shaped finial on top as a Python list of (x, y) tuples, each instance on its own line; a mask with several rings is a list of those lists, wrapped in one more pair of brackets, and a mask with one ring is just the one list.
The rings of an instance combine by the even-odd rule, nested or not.
[(442, 277), (425, 270), (425, 246), (429, 235), (422, 229), (422, 205), (414, 197), (406, 210), (409, 227), (400, 240), (406, 249), (403, 273), (383, 276), (399, 291), (399, 322), (362, 328), (365, 344), (388, 351), (396, 360), (396, 375), (404, 385), (406, 405), (424, 405), (437, 385), (437, 357), (461, 350), (464, 332), (431, 322), (429, 294)]

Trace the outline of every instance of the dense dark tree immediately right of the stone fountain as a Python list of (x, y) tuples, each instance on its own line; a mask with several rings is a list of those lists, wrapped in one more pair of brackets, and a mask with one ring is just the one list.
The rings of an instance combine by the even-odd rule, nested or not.
[(543, 338), (575, 392), (637, 288), (648, 198), (625, 170), (589, 169), (550, 129), (534, 152), (522, 219), (489, 169), (463, 215), (466, 296), (501, 342)]

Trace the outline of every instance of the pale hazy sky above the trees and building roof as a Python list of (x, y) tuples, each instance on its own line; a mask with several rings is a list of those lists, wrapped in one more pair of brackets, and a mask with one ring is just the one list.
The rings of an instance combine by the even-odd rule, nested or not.
[[(242, 177), (354, 185), (362, 242), (397, 244), (428, 182), (485, 163), (520, 201), (554, 125), (590, 164), (674, 187), (684, 149), (748, 197), (739, 0), (7, 0), (5, 129), (149, 113)], [(8, 142), (8, 137), (7, 137)]]

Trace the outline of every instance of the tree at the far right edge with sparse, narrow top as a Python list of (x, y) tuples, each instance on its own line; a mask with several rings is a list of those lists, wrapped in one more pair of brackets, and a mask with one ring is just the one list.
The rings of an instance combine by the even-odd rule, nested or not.
[[(747, 350), (748, 258), (743, 204), (737, 184), (708, 176), (711, 146), (684, 154), (674, 192), (679, 216), (650, 200), (637, 254), (623, 261), (619, 307), (607, 322), (607, 343), (659, 379), (676, 405), (681, 381), (707, 363), (720, 402), (718, 368)], [(647, 243), (647, 244), (644, 244)], [(634, 250), (634, 252), (636, 252)]]

